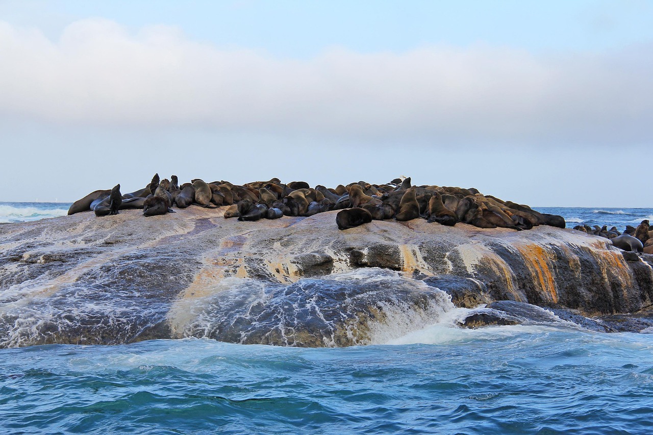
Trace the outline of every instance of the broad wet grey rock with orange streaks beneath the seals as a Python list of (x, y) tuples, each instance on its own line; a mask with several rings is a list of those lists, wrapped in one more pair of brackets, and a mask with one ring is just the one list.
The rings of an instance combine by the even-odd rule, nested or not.
[[(224, 210), (2, 225), (0, 346), (183, 336), (348, 346), (378, 341), (381, 324), (397, 335), (411, 327), (402, 322), (433, 323), (454, 305), (614, 315), (652, 304), (653, 256), (579, 231), (424, 219), (339, 231), (337, 212), (241, 222)], [(350, 293), (336, 285), (357, 270), (374, 273)]]

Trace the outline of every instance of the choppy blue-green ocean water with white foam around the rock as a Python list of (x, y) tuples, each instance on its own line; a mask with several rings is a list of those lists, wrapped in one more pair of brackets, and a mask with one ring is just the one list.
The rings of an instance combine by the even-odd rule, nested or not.
[[(69, 205), (0, 202), (0, 222)], [(568, 227), (653, 219), (653, 208), (535, 209)], [(439, 308), (404, 313), (402, 333), (377, 331), (370, 346), (184, 338), (0, 349), (0, 434), (651, 431), (652, 334), (592, 332), (550, 313), (545, 325), (460, 329), (466, 309)]]

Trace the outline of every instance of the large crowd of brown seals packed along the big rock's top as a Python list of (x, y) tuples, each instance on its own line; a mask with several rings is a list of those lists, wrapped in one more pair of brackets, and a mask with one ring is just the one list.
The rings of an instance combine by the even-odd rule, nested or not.
[(155, 174), (143, 189), (125, 195), (121, 195), (119, 189), (118, 184), (110, 190), (89, 193), (74, 202), (68, 214), (92, 210), (97, 216), (106, 216), (117, 214), (118, 210), (142, 208), (144, 216), (155, 216), (174, 212), (172, 206), (186, 208), (194, 204), (208, 208), (229, 206), (224, 217), (238, 217), (240, 221), (312, 216), (341, 210), (336, 216), (341, 230), (373, 219), (408, 221), (418, 217), (442, 225), (463, 222), (479, 228), (565, 227), (561, 216), (539, 213), (526, 205), (482, 195), (474, 188), (415, 186), (411, 185), (409, 177), (396, 178), (382, 185), (358, 182), (327, 189), (323, 185), (311, 188), (306, 182), (283, 184), (278, 178), (243, 185), (196, 179), (178, 185), (174, 175), (170, 180), (160, 180), (159, 174)]

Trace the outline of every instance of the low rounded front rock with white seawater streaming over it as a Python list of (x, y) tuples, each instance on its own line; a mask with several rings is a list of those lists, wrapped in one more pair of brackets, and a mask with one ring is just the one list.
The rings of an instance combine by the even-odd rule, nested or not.
[(168, 321), (176, 338), (340, 347), (387, 342), (454, 308), (449, 295), (419, 280), (362, 268), (289, 285), (227, 278), (211, 295), (177, 302)]

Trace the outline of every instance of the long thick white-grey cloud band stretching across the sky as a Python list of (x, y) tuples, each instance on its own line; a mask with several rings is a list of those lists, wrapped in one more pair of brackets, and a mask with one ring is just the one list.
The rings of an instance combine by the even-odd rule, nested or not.
[(56, 42), (0, 22), (0, 114), (65, 125), (411, 138), (454, 144), (653, 139), (653, 45), (534, 54), (478, 44), (310, 59), (80, 20)]

